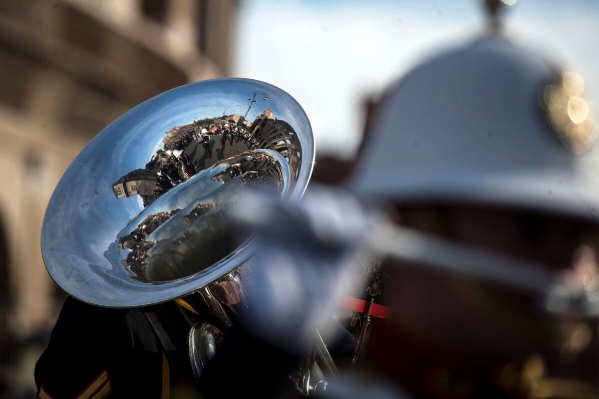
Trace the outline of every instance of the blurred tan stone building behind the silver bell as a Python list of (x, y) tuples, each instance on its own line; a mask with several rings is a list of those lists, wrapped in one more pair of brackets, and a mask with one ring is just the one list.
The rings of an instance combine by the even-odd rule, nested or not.
[(0, 0), (0, 394), (7, 380), (18, 383), (7, 367), (10, 344), (47, 334), (62, 304), (40, 251), (60, 176), (123, 112), (172, 87), (228, 75), (237, 7)]

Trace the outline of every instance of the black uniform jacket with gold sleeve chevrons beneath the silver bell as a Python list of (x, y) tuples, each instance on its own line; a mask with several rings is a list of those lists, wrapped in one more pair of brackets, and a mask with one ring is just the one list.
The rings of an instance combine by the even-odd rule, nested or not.
[(193, 387), (187, 333), (213, 320), (188, 309), (106, 309), (69, 297), (35, 367), (38, 397), (168, 398), (174, 386)]

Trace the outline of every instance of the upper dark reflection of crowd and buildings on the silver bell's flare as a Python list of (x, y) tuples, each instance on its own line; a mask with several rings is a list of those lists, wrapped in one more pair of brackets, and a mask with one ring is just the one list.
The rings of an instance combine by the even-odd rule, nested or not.
[[(274, 118), (270, 108), (253, 123), (242, 126), (219, 121), (222, 122), (222, 118), (205, 118), (173, 127), (165, 133), (164, 147), (156, 151), (144, 169), (132, 170), (113, 184), (114, 195), (117, 198), (139, 195), (145, 208), (198, 171), (234, 154), (257, 148), (270, 148), (282, 154), (289, 163), (292, 176), (298, 176), (301, 166), (299, 139), (288, 123)], [(204, 151), (199, 150), (199, 145)], [(216, 158), (213, 159), (215, 147)]]

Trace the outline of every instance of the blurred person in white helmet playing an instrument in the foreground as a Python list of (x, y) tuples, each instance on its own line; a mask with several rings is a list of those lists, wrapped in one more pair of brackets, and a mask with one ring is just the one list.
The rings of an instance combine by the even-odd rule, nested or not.
[(583, 80), (491, 37), (389, 90), (352, 181), (386, 204), (369, 364), (418, 398), (599, 397), (599, 153)]

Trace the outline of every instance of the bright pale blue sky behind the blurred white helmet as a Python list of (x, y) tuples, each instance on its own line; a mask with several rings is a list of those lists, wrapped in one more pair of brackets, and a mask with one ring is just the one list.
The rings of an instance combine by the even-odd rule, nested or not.
[[(484, 32), (478, 0), (245, 0), (236, 22), (237, 77), (285, 90), (310, 118), (317, 154), (352, 157), (362, 102), (436, 51)], [(599, 99), (599, 2), (519, 0), (507, 32), (583, 75)], [(597, 106), (594, 106), (597, 112)]]

